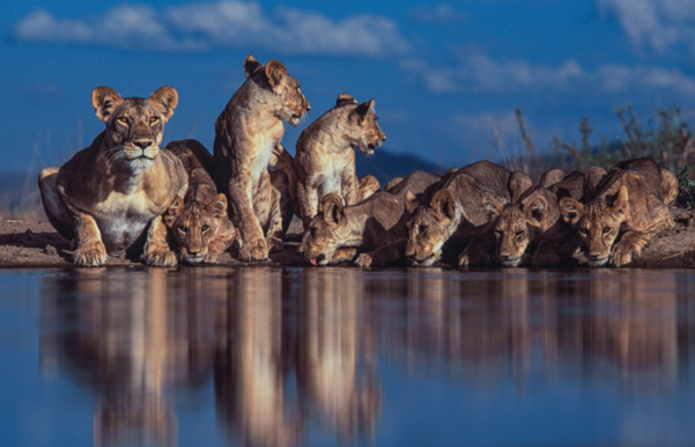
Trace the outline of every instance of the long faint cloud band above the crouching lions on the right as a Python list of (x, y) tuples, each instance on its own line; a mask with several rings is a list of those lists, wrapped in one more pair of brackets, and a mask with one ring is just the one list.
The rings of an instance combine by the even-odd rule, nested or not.
[(604, 93), (669, 90), (695, 97), (695, 79), (680, 69), (603, 65), (586, 70), (569, 60), (557, 67), (525, 61), (496, 61), (484, 54), (463, 58), (454, 67), (438, 67), (408, 60), (401, 67), (420, 76), (433, 93)]

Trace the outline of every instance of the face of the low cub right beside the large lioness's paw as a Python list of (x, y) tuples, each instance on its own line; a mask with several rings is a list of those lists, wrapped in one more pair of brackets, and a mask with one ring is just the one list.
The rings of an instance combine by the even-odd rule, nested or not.
[(184, 264), (206, 260), (210, 241), (227, 218), (227, 199), (219, 194), (207, 206), (184, 205), (180, 198), (169, 209), (164, 222), (179, 244), (179, 258)]

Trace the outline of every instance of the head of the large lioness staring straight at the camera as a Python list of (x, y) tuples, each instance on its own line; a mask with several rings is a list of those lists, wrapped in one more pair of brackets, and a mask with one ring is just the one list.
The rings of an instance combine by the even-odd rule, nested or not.
[(109, 87), (94, 89), (92, 105), (106, 124), (109, 164), (125, 165), (134, 172), (148, 169), (159, 156), (164, 123), (177, 104), (178, 94), (168, 86), (148, 99), (123, 99)]

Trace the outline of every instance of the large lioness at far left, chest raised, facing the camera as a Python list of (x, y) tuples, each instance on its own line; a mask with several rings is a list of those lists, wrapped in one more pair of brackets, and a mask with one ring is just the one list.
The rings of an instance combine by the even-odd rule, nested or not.
[(75, 264), (102, 265), (109, 255), (139, 249), (135, 242), (144, 236), (147, 264), (176, 265), (161, 216), (186, 193), (188, 176), (181, 160), (159, 144), (177, 103), (169, 86), (147, 99), (122, 98), (109, 87), (97, 87), (92, 105), (106, 130), (60, 168), (39, 174), (48, 219), (60, 234), (76, 240)]

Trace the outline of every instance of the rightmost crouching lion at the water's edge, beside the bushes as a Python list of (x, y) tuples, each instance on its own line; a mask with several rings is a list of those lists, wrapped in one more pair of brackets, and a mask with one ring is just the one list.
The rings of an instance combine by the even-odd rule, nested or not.
[(590, 266), (620, 267), (639, 257), (652, 236), (674, 225), (668, 205), (677, 196), (676, 176), (654, 160), (640, 158), (617, 163), (586, 204), (570, 197), (560, 200), (560, 212), (579, 232)]

